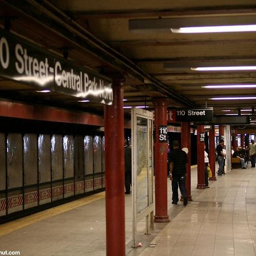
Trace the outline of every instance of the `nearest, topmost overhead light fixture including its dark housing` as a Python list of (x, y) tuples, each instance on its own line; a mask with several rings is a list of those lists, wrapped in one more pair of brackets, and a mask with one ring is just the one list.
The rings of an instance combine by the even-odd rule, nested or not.
[(216, 33), (256, 31), (255, 14), (130, 19), (133, 32)]

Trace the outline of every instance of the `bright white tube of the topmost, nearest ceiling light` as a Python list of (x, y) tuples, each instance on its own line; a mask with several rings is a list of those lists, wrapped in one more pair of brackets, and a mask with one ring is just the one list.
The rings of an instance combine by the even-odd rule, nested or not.
[(219, 33), (256, 31), (256, 25), (207, 26), (171, 28), (172, 33)]

